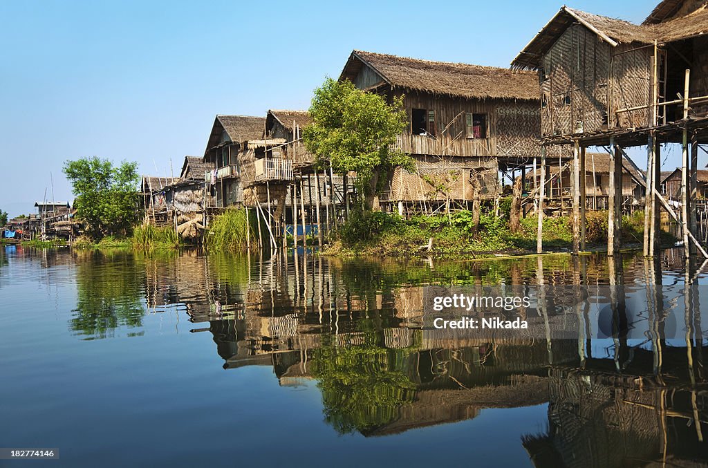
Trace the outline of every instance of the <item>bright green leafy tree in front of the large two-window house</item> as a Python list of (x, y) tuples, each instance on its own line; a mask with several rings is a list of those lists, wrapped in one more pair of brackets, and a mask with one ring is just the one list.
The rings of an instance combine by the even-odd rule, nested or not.
[(380, 185), (396, 166), (410, 168), (410, 156), (394, 149), (406, 127), (403, 97), (391, 104), (378, 94), (365, 93), (350, 81), (328, 78), (314, 91), (309, 108), (312, 124), (304, 128), (305, 147), (320, 166), (357, 173), (356, 186), (370, 209)]

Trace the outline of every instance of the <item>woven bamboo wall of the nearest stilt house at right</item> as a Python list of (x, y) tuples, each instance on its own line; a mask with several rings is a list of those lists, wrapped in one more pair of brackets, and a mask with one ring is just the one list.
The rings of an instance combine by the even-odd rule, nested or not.
[(542, 61), (542, 135), (646, 126), (648, 110), (622, 113), (617, 122), (615, 110), (649, 103), (652, 53), (634, 44), (612, 48), (583, 25), (571, 25)]

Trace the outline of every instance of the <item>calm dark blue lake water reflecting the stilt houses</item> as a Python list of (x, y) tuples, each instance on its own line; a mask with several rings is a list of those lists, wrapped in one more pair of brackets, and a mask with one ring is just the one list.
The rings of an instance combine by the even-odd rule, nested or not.
[(706, 341), (695, 332), (708, 329), (708, 306), (687, 316), (700, 336), (690, 348), (421, 329), (423, 285), (605, 285), (612, 274), (629, 290), (680, 291), (686, 269), (705, 282), (678, 252), (612, 265), (301, 252), (296, 265), (292, 252), (2, 249), (0, 447), (57, 447), (51, 466), (708, 462)]

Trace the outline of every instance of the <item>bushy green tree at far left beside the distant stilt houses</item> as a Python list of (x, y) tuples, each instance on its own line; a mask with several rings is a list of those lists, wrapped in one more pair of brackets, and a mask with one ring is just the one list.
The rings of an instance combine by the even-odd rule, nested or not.
[(108, 159), (93, 156), (67, 161), (64, 174), (76, 195), (76, 215), (89, 235), (127, 234), (139, 217), (137, 163), (113, 166)]

